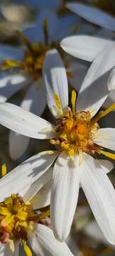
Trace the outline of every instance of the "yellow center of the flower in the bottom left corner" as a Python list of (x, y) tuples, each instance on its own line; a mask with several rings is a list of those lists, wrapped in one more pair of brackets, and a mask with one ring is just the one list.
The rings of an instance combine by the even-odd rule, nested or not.
[(0, 203), (0, 242), (4, 245), (8, 243), (13, 252), (15, 242), (18, 241), (23, 245), (26, 255), (31, 256), (26, 244), (27, 236), (33, 231), (34, 223), (43, 218), (42, 214), (34, 213), (31, 203), (24, 203), (22, 198), (11, 194), (11, 197)]

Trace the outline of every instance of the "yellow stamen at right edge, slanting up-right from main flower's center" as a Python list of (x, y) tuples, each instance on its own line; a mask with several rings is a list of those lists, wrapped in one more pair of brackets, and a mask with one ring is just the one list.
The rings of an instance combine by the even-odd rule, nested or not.
[(107, 107), (106, 110), (100, 111), (99, 114), (97, 114), (97, 116), (94, 119), (92, 119), (91, 124), (94, 124), (95, 122), (98, 122), (99, 119), (101, 119), (102, 117), (106, 116), (106, 114), (109, 114), (114, 109), (115, 109), (115, 103), (110, 105), (109, 107)]

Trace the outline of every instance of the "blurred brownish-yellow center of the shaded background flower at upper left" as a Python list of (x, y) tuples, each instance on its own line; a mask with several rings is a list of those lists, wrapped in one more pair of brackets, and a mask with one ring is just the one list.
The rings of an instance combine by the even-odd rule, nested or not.
[(57, 48), (57, 50), (60, 50), (60, 47), (56, 42), (49, 43), (47, 20), (43, 21), (45, 44), (38, 43), (32, 45), (31, 41), (23, 36), (23, 33), (19, 31), (17, 31), (17, 33), (18, 36), (21, 38), (21, 41), (23, 41), (27, 48), (27, 50), (25, 50), (23, 60), (21, 62), (14, 60), (4, 60), (4, 62), (1, 64), (1, 68), (22, 68), (28, 75), (31, 76), (33, 80), (38, 80), (42, 75), (43, 61), (46, 52), (53, 48)]

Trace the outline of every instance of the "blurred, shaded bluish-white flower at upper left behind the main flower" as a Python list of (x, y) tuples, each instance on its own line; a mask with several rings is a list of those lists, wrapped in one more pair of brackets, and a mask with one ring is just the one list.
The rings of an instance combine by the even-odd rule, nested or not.
[[(0, 73), (0, 102), (5, 102), (28, 85), (21, 107), (39, 116), (43, 113), (46, 102), (41, 78), (45, 53), (50, 48), (60, 49), (58, 41), (72, 31), (78, 20), (75, 15), (57, 18), (51, 11), (41, 11), (34, 26), (23, 31), (30, 41), (20, 35), (26, 48), (0, 46), (0, 63), (4, 68)], [(9, 151), (12, 159), (17, 159), (26, 151), (29, 140), (20, 134), (10, 133)]]

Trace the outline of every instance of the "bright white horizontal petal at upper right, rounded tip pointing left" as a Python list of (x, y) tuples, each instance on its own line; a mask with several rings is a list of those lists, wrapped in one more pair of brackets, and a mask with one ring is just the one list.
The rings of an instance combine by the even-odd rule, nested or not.
[(65, 52), (82, 60), (92, 61), (99, 51), (103, 50), (113, 41), (96, 36), (69, 36), (64, 38), (60, 46)]

